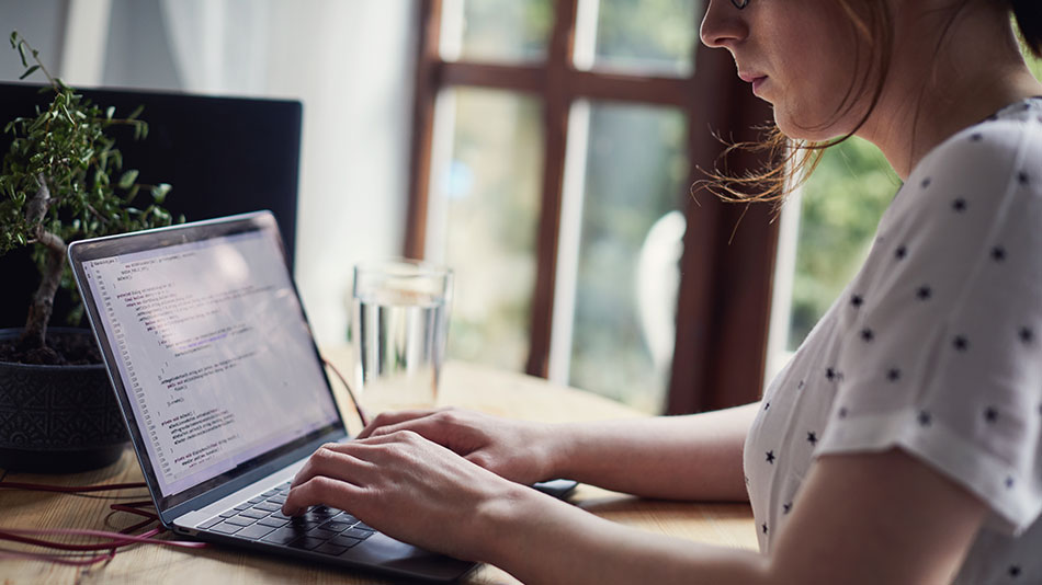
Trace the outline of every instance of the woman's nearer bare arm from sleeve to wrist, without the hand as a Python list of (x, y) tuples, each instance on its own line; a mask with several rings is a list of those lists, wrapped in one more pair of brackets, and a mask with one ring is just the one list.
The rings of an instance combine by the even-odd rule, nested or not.
[(489, 534), (510, 538), (486, 540), (482, 555), (530, 585), (944, 584), (986, 513), (974, 495), (899, 450), (816, 462), (770, 557), (526, 500), (491, 515)]

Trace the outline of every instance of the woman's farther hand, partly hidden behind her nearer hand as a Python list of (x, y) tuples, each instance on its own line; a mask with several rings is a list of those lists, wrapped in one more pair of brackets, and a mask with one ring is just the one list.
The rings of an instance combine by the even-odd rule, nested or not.
[(382, 413), (358, 438), (411, 431), (508, 480), (532, 484), (554, 479), (560, 454), (551, 425), (498, 418), (456, 409)]

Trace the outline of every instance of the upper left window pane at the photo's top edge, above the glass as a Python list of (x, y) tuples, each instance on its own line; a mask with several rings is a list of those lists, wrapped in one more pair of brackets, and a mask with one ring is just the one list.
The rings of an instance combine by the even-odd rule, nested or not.
[(554, 25), (551, 0), (446, 0), (442, 58), (541, 61)]

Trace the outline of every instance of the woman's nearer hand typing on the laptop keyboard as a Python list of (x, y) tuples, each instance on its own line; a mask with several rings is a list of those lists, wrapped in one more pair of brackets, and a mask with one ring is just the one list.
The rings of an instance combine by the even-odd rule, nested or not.
[(326, 504), (387, 536), (464, 560), (487, 560), (489, 530), (551, 500), (410, 431), (324, 445), (293, 480), (283, 513)]

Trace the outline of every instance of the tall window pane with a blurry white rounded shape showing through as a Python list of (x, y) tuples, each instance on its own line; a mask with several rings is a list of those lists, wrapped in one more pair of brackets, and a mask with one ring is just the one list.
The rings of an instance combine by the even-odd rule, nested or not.
[(569, 382), (647, 412), (672, 358), (686, 130), (672, 108), (590, 106)]

